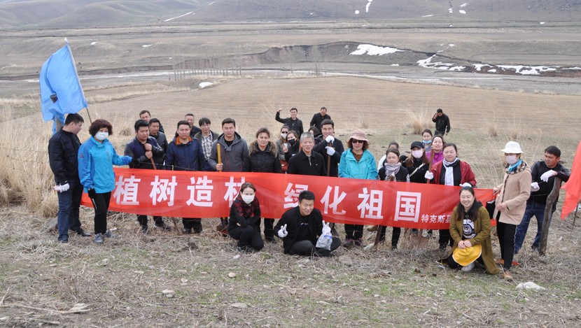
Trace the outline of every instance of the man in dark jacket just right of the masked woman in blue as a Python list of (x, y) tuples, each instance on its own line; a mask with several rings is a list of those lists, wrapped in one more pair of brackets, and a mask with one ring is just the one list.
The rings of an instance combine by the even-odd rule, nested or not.
[[(154, 169), (153, 163), (163, 162), (164, 151), (158, 141), (149, 136), (149, 124), (146, 120), (137, 120), (134, 124), (135, 138), (125, 145), (125, 156), (133, 157), (134, 161), (129, 164), (132, 169)], [(157, 169), (157, 166), (155, 166)], [(161, 169), (161, 168), (160, 168)], [(154, 216), (155, 227), (170, 230), (160, 216)], [(147, 215), (137, 215), (137, 222), (141, 226), (141, 233), (148, 233)]]

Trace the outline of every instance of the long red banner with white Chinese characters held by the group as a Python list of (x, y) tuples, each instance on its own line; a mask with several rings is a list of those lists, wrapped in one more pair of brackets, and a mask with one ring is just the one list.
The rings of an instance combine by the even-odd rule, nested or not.
[[(447, 229), (460, 187), (276, 173), (155, 171), (116, 168), (109, 210), (179, 218), (221, 218), (244, 182), (253, 183), (263, 218), (280, 218), (310, 190), (328, 222)], [(477, 189), (486, 204), (492, 190)], [(83, 205), (92, 206), (87, 195)]]

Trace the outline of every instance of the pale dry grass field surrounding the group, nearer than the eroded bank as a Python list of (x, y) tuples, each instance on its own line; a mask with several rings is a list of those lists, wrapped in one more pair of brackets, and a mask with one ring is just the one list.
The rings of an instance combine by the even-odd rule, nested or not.
[[(87, 98), (92, 99), (93, 119), (113, 122), (116, 135), (112, 139), (119, 152), (132, 138), (132, 122), (143, 108), (160, 117), (167, 131), (186, 112), (210, 117), (215, 130), (223, 117), (235, 117), (239, 132), (252, 140), (258, 127), (279, 128), (274, 122), (276, 108), (296, 106), (299, 116), (307, 120), (318, 107), (327, 106), (339, 138), (346, 138), (352, 129), (363, 129), (379, 158), (389, 141), (407, 149), (419, 138), (413, 134), (412, 117), (425, 120), (442, 107), (452, 123), (447, 140), (458, 144), (461, 158), (475, 169), (480, 187), (500, 181), (499, 150), (509, 140), (523, 145), (528, 162), (540, 159), (546, 145), (558, 145), (570, 166), (581, 128), (576, 108), (579, 96), (348, 77), (216, 78), (214, 87), (194, 90), (199, 82), (90, 87)], [(86, 113), (82, 114), (86, 120)], [(54, 233), (42, 230), (46, 217), (56, 211), (45, 154), (49, 125), (39, 123), (38, 114), (16, 117), (3, 125), (2, 325), (580, 324), (579, 228), (570, 219), (554, 220), (545, 257), (529, 250), (528, 234), (517, 257), (521, 265), (514, 269), (514, 283), (478, 269), (465, 274), (440, 268), (435, 262), (440, 256), (435, 240), (426, 250), (412, 249), (407, 240), (400, 241), (396, 251), (384, 246), (371, 252), (339, 249), (340, 257), (331, 259), (288, 257), (282, 254), (281, 243), (276, 243), (235, 258), (232, 241), (214, 234), (215, 219), (205, 220), (206, 233), (190, 240), (174, 232), (140, 236), (134, 215), (113, 215), (110, 227), (117, 236), (104, 246), (78, 236), (59, 245)], [(80, 138), (87, 138), (86, 129)], [(87, 209), (82, 215), (84, 227), (91, 230), (92, 211)], [(535, 227), (531, 223), (531, 229)], [(236, 276), (229, 278), (228, 273)], [(526, 281), (547, 290), (515, 288)], [(164, 290), (172, 290), (172, 297)], [(88, 311), (72, 313), (69, 310), (75, 304), (86, 304)]]

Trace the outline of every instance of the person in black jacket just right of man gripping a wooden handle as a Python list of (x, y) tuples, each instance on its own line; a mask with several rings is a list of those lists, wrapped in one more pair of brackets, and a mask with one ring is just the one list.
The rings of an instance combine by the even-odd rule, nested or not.
[[(262, 127), (256, 131), (256, 140), (248, 145), (248, 162), (244, 172), (282, 173), (276, 145), (270, 139), (270, 131)], [(232, 224), (230, 224), (232, 226)], [(265, 218), (265, 239), (274, 243), (274, 219)], [(260, 235), (260, 218), (258, 220), (258, 234)]]

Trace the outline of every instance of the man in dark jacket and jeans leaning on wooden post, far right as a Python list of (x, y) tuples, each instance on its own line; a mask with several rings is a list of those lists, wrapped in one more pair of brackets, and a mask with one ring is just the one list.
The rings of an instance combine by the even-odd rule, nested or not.
[[(545, 218), (545, 207), (547, 206), (547, 197), (551, 193), (555, 178), (560, 178), (563, 183), (569, 180), (570, 172), (559, 163), (561, 161), (561, 150), (552, 145), (545, 149), (545, 160), (538, 161), (533, 164), (531, 169), (531, 197), (526, 201), (526, 210), (521, 223), (517, 227), (517, 235), (514, 238), (514, 253), (516, 254), (522, 247), (524, 236), (528, 224), (531, 222), (533, 216), (537, 218), (537, 234), (533, 241), (531, 248), (538, 250), (540, 247), (540, 234), (542, 231), (542, 222)], [(556, 203), (559, 201), (559, 194), (557, 194), (555, 202), (551, 208), (551, 216), (549, 222), (552, 220), (553, 213), (556, 210)]]

